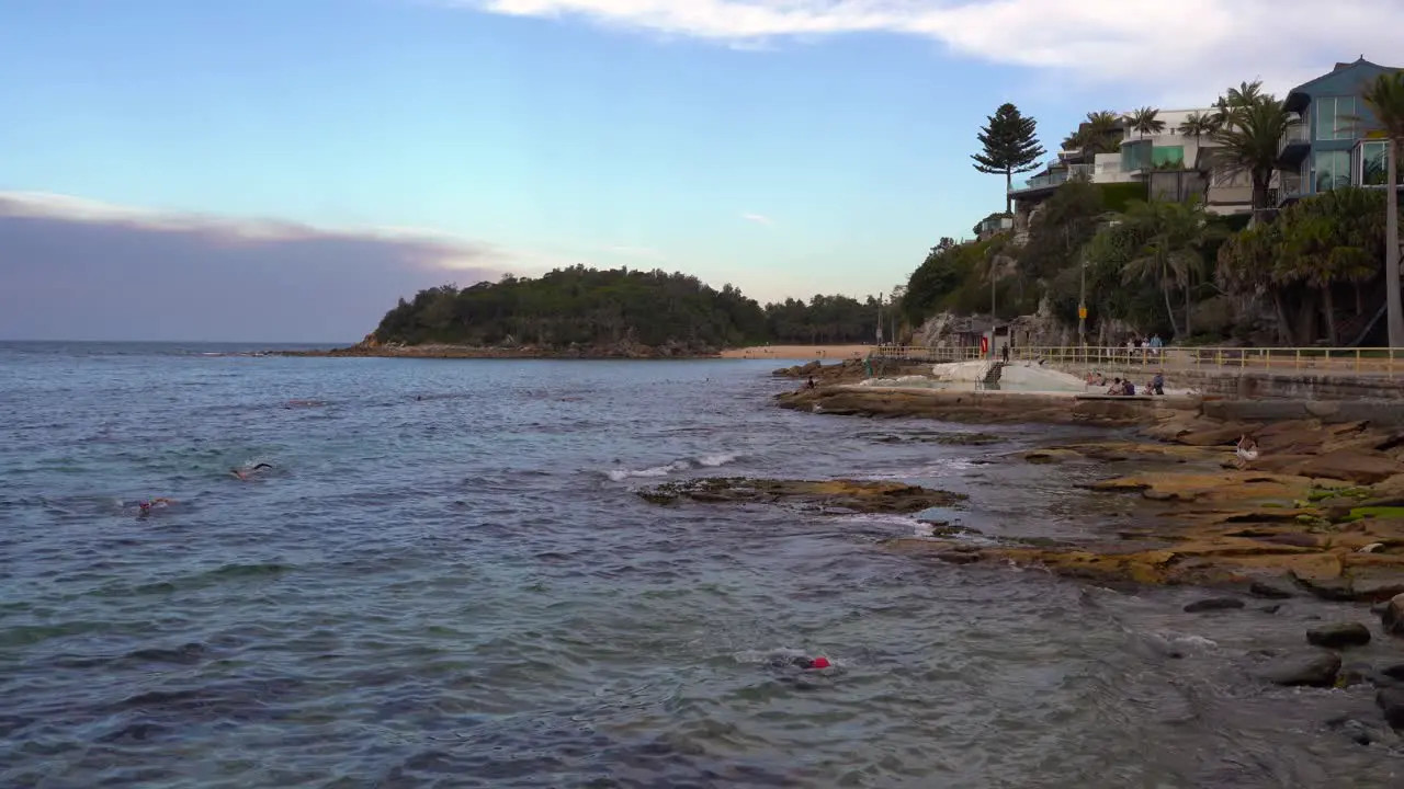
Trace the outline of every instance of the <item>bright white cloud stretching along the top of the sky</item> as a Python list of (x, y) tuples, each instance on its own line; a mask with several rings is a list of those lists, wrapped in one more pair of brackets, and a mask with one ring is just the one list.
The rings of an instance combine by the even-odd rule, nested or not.
[[(1404, 3), (1335, 0), (445, 0), (493, 14), (580, 17), (730, 46), (887, 32), (991, 63), (1059, 69), (1157, 95), (1262, 77), (1286, 90), (1337, 60), (1400, 55)], [(1331, 21), (1328, 21), (1331, 20)], [(1398, 65), (1398, 63), (1390, 63)]]

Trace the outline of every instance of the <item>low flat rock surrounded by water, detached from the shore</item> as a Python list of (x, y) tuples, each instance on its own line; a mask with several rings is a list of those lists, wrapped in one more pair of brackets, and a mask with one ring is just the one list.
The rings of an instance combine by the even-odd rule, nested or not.
[(952, 507), (966, 498), (960, 493), (890, 482), (747, 477), (671, 482), (639, 490), (637, 494), (654, 504), (673, 504), (681, 498), (717, 504), (792, 503), (823, 514), (913, 514), (936, 507)]

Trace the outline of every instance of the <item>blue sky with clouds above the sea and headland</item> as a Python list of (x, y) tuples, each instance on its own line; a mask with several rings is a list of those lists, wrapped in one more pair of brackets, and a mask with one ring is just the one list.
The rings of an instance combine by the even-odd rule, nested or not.
[(359, 340), (557, 265), (890, 292), (1012, 101), (1404, 59), (1400, 0), (0, 0), (0, 338)]

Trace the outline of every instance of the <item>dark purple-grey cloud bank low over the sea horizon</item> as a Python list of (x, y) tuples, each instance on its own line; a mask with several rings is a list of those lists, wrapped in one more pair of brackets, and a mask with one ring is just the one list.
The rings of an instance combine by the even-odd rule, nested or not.
[(400, 296), (524, 260), (410, 227), (0, 192), (0, 338), (354, 341)]

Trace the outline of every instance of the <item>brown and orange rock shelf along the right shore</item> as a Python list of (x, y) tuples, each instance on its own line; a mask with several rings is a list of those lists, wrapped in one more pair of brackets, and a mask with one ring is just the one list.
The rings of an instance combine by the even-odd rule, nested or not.
[[(1122, 434), (1130, 428), (1129, 437), (984, 462), (1105, 470), (1102, 479), (1078, 487), (1090, 497), (1127, 500), (1134, 526), (1109, 525), (1087, 539), (1021, 541), (946, 525), (932, 536), (897, 538), (887, 546), (959, 566), (1039, 567), (1113, 588), (1210, 591), (1213, 597), (1185, 608), (1195, 615), (1250, 605), (1257, 615), (1271, 615), (1293, 597), (1344, 604), (1351, 621), (1310, 629), (1303, 650), (1275, 656), (1261, 678), (1289, 687), (1372, 684), (1386, 722), (1404, 729), (1404, 431), (1369, 420), (1213, 418), (1198, 399), (859, 387), (856, 380), (866, 375), (855, 365), (809, 365), (776, 375), (813, 378), (814, 387), (782, 393), (776, 404), (817, 414), (1087, 424), (1123, 428)], [(1234, 452), (1244, 434), (1257, 439), (1259, 451), (1248, 462)], [(1118, 473), (1119, 468), (1126, 470)], [(1397, 665), (1342, 660), (1373, 633), (1398, 644)]]

